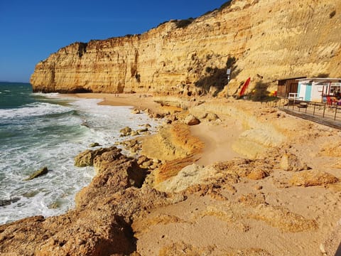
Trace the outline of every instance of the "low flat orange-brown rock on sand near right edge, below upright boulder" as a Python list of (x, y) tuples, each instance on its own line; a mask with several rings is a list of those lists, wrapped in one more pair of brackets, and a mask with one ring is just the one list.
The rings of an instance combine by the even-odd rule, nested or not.
[(321, 186), (335, 183), (339, 179), (324, 171), (300, 171), (294, 174), (290, 180), (293, 186)]

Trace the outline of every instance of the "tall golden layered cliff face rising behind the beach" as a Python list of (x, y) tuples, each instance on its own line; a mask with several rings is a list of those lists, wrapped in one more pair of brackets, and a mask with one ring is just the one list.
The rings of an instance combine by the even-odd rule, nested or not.
[[(34, 91), (198, 93), (251, 77), (341, 76), (341, 1), (232, 0), (187, 26), (72, 43), (36, 65)], [(200, 81), (205, 80), (205, 88)], [(208, 86), (207, 86), (208, 84)]]

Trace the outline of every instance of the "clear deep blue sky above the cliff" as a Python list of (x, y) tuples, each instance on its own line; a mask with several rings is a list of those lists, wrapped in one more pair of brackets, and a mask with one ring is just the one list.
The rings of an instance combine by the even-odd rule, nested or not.
[(28, 82), (36, 63), (75, 41), (144, 33), (227, 0), (0, 0), (0, 80)]

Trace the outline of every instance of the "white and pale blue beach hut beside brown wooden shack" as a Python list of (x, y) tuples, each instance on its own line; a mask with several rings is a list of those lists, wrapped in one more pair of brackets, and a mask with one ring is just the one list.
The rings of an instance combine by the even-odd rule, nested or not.
[(297, 79), (296, 99), (310, 102), (326, 102), (328, 97), (340, 97), (341, 78)]

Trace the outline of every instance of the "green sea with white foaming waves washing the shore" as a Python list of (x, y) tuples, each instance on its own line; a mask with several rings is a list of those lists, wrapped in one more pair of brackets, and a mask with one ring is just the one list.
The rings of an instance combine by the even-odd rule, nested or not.
[[(37, 94), (30, 84), (0, 82), (1, 224), (65, 213), (94, 176), (92, 167), (74, 166), (77, 154), (92, 142), (112, 146), (123, 139), (123, 127), (158, 125), (146, 114), (131, 114), (131, 107), (99, 101)], [(23, 181), (43, 166), (48, 174)]]

